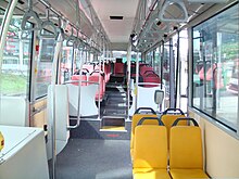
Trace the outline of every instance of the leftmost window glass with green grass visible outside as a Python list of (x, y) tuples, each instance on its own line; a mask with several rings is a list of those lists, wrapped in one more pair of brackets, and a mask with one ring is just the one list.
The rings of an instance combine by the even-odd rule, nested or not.
[[(0, 11), (0, 14), (3, 10)], [(2, 16), (0, 17), (2, 21)], [(29, 94), (29, 66), (32, 54), (32, 33), (21, 30), (22, 18), (11, 20), (2, 59), (0, 91), (2, 95)], [(30, 26), (29, 23), (27, 23)]]

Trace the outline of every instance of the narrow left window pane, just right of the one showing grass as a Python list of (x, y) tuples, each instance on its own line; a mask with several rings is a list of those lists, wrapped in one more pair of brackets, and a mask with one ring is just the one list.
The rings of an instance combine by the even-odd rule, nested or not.
[[(49, 34), (45, 30), (45, 34)], [(37, 62), (36, 76), (36, 99), (43, 97), (48, 92), (48, 86), (51, 84), (52, 62), (54, 55), (54, 39), (43, 39), (38, 37), (39, 57)]]

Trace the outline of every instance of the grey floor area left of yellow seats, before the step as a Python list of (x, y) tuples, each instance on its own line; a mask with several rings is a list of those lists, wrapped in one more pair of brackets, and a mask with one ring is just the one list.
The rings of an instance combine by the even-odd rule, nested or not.
[(58, 155), (56, 179), (131, 178), (129, 140), (70, 139)]

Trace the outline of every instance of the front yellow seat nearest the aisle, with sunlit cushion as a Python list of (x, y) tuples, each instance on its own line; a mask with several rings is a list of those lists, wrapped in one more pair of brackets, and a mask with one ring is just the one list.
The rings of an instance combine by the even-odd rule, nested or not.
[(166, 133), (165, 126), (141, 125), (136, 127), (134, 179), (171, 179), (167, 172)]

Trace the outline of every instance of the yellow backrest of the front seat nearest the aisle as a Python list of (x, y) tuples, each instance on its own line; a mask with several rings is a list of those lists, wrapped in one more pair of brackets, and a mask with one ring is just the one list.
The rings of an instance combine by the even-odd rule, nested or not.
[(134, 168), (167, 168), (167, 137), (165, 126), (137, 126), (134, 146)]

